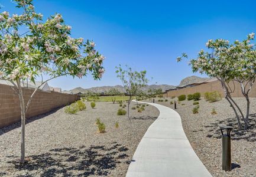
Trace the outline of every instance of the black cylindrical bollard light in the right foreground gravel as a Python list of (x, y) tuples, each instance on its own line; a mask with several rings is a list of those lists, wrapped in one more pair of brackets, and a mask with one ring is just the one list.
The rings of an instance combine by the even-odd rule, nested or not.
[[(222, 170), (231, 171), (231, 130), (233, 127), (221, 125), (222, 135)], [(223, 133), (226, 131), (226, 134)]]

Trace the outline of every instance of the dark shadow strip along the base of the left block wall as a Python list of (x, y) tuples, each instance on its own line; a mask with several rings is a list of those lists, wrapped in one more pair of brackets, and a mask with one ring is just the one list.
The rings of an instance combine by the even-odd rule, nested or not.
[[(44, 118), (46, 116), (49, 116), (50, 114), (56, 113), (59, 109), (61, 109), (63, 107), (65, 107), (65, 106), (57, 107), (56, 109), (53, 109), (50, 112), (47, 112), (47, 113), (44, 113), (44, 114), (40, 114), (38, 116), (27, 118), (26, 119), (26, 124), (28, 124), (30, 122), (34, 122), (35, 120), (38, 120), (38, 119), (42, 119), (42, 118)], [(14, 130), (14, 129), (17, 129), (19, 127), (21, 127), (21, 121), (13, 123), (13, 124), (11, 124), (11, 125), (9, 125), (7, 127), (2, 127), (2, 128), (0, 128), (0, 136), (3, 135), (4, 133), (7, 133), (7, 132), (9, 132), (11, 130)]]

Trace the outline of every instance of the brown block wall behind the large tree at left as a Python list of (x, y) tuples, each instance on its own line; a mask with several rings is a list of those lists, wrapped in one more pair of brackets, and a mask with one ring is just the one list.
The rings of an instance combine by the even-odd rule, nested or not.
[[(33, 90), (24, 89), (25, 103), (27, 103), (32, 93)], [(65, 106), (78, 99), (78, 96), (72, 94), (38, 91), (30, 103), (26, 117), (30, 118), (50, 112), (57, 107)], [(11, 89), (11, 86), (0, 84), (0, 128), (20, 121), (20, 116), (18, 95)]]

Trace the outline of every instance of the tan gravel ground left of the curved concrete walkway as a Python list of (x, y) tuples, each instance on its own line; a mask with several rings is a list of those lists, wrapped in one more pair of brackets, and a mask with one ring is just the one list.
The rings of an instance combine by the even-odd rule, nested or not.
[[(116, 115), (119, 104), (86, 106), (86, 111), (74, 115), (65, 114), (62, 108), (29, 119), (24, 166), (19, 163), (20, 124), (0, 129), (0, 176), (125, 176), (158, 110), (153, 106), (145, 106), (142, 113), (131, 110), (128, 120)], [(106, 133), (98, 133), (98, 117), (105, 123)]]

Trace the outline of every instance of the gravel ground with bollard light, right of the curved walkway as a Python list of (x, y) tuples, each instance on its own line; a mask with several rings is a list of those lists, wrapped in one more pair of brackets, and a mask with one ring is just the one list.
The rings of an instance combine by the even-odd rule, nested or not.
[[(174, 109), (174, 104), (168, 101), (155, 103)], [(163, 99), (164, 100), (164, 99)], [(244, 98), (235, 98), (242, 106)], [(184, 105), (182, 105), (184, 104)], [(184, 132), (190, 141), (197, 156), (202, 160), (208, 171), (213, 176), (256, 176), (256, 99), (251, 98), (251, 127), (245, 131), (239, 131), (236, 125), (236, 118), (228, 101), (222, 99), (215, 103), (209, 103), (204, 99), (199, 101), (199, 113), (193, 114), (195, 107), (192, 101), (181, 101), (177, 104), (177, 112), (182, 117)], [(212, 109), (217, 114), (212, 115)], [(242, 106), (245, 110), (245, 106)], [(222, 149), (221, 130), (219, 124), (232, 124), (234, 130), (232, 136), (232, 171), (222, 171)]]

